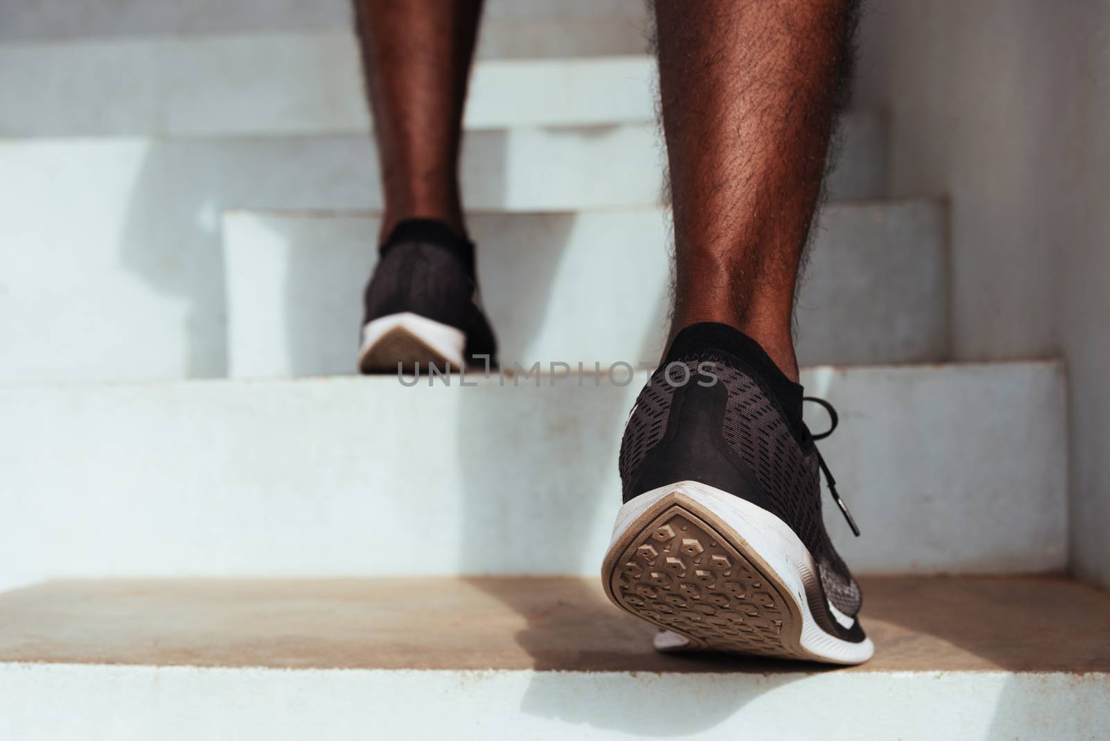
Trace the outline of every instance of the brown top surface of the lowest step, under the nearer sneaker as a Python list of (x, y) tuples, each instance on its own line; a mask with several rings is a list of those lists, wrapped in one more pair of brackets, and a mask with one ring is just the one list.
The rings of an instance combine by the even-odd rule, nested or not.
[[(1058, 577), (870, 578), (848, 671), (1110, 671), (1110, 595)], [(1049, 609), (1050, 608), (1050, 609)], [(0, 661), (274, 669), (813, 672), (665, 656), (597, 579), (65, 580), (0, 595)], [(1067, 637), (1067, 640), (1061, 638)]]

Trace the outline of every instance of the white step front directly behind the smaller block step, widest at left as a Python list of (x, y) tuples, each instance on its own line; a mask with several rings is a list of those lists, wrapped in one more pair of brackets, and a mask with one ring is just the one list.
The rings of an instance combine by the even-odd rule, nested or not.
[[(882, 191), (884, 132), (848, 118), (835, 196)], [(654, 206), (659, 163), (654, 124), (480, 131), (463, 185), (485, 211)], [(0, 380), (224, 375), (220, 212), (382, 204), (365, 135), (8, 140), (0, 195)]]

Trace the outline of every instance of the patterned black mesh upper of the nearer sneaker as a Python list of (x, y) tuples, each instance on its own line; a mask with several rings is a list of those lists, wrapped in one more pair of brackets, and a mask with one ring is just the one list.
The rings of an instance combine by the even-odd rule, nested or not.
[[(771, 514), (798, 535), (818, 562), (829, 600), (842, 612), (856, 615), (862, 596), (825, 529), (817, 449), (804, 426), (789, 425), (765, 386), (727, 354), (702, 353), (667, 359), (690, 368), (690, 383), (698, 378), (699, 364), (713, 363), (718, 383), (728, 390), (724, 439), (759, 481)], [(665, 367), (653, 374), (640, 392), (625, 428), (618, 465), (626, 501), (643, 494), (628, 487), (636, 481), (637, 471), (667, 429), (675, 386), (664, 377)], [(672, 377), (682, 375), (674, 373)]]

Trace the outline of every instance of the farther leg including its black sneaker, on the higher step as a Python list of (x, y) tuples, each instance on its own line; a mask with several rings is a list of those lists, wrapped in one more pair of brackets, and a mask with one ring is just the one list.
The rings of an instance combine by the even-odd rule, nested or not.
[(354, 8), (385, 196), (359, 368), (495, 363), (493, 329), (474, 301), (474, 245), (458, 187), (482, 0), (354, 0)]

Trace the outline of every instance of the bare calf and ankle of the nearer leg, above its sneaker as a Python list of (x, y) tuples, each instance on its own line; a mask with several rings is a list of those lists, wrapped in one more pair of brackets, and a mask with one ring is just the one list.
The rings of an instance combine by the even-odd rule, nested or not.
[(798, 379), (794, 293), (850, 67), (852, 0), (658, 0), (672, 337), (722, 322)]

